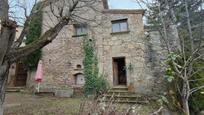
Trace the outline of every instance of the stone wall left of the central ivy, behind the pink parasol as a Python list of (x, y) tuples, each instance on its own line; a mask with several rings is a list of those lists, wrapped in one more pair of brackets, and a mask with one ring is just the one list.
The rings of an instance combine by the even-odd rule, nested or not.
[[(58, 4), (61, 5), (60, 3)], [(94, 4), (96, 9), (102, 8), (102, 2)], [(76, 86), (76, 75), (83, 74), (83, 39), (82, 37), (74, 37), (75, 31), (73, 24), (78, 22), (87, 23), (90, 26), (89, 36), (91, 38), (91, 26), (99, 23), (101, 13), (94, 13), (89, 8), (80, 8), (75, 15), (81, 16), (88, 20), (75, 18), (75, 21), (70, 21), (68, 26), (65, 26), (58, 34), (57, 38), (42, 49), (42, 61), (44, 78), (42, 86), (44, 87), (79, 87)], [(58, 20), (51, 13), (50, 7), (43, 9), (43, 33), (50, 27), (57, 24)], [(57, 12), (57, 11), (56, 11)], [(99, 19), (98, 21), (95, 21)], [(80, 65), (81, 68), (77, 68)]]

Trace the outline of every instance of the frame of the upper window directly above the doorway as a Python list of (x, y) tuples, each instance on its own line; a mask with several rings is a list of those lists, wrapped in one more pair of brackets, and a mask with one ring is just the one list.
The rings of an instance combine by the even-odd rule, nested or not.
[[(122, 30), (122, 28), (121, 28), (121, 24), (122, 24), (122, 23), (125, 23), (125, 24), (126, 24), (126, 26), (127, 26), (127, 29), (126, 29), (126, 30)], [(118, 25), (119, 25), (119, 28), (118, 28), (119, 31), (114, 31), (114, 29), (113, 29), (113, 25), (114, 25), (114, 24), (118, 24)], [(128, 31), (129, 31), (128, 19), (125, 18), (125, 19), (119, 19), (119, 20), (112, 20), (112, 21), (111, 21), (111, 29), (112, 29), (112, 33), (128, 32)]]

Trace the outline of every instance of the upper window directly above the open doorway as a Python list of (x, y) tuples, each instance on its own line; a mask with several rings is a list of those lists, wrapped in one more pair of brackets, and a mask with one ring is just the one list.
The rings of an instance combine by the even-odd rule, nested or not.
[(112, 21), (112, 32), (124, 32), (128, 31), (127, 19)]

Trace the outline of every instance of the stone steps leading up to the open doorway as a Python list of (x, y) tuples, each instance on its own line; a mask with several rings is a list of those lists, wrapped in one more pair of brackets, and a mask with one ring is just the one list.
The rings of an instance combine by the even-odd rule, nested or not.
[(136, 93), (128, 92), (127, 86), (116, 86), (110, 89), (104, 95), (106, 102), (128, 103), (128, 104), (146, 104), (148, 98)]

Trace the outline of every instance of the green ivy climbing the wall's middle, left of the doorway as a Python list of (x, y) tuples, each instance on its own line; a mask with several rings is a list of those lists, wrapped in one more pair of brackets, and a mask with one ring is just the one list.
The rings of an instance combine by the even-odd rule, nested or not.
[(99, 76), (97, 67), (98, 64), (97, 59), (94, 56), (93, 44), (87, 39), (84, 40), (84, 55), (83, 64), (86, 81), (84, 85), (85, 95), (99, 95), (107, 90), (108, 84), (102, 76)]

